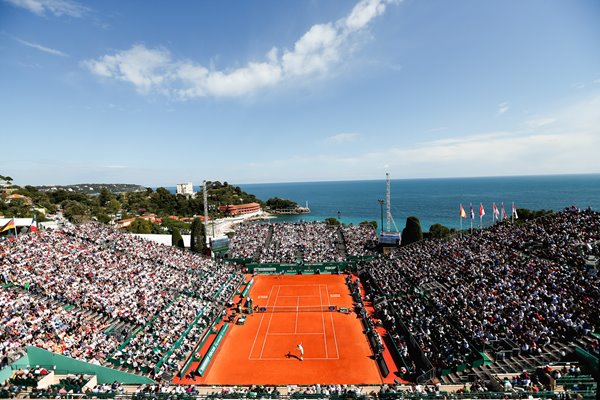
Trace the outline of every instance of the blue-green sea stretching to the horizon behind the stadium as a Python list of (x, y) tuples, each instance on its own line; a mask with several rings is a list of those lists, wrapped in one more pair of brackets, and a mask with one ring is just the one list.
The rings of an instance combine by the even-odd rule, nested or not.
[[(386, 182), (381, 180), (289, 182), (237, 184), (242, 190), (266, 201), (280, 197), (301, 206), (308, 203), (310, 214), (281, 215), (272, 222), (323, 221), (338, 218), (344, 224), (377, 221), (386, 223), (385, 205), (378, 200), (386, 198)], [(485, 215), (482, 225), (492, 224), (492, 204), (501, 208), (504, 203), (510, 217), (512, 203), (516, 208), (559, 211), (565, 207), (591, 207), (600, 210), (600, 174), (544, 175), (481, 178), (392, 179), (390, 181), (391, 229), (406, 225), (406, 218), (419, 218), (421, 227), (428, 231), (432, 224), (449, 228), (479, 227), (479, 207)], [(169, 188), (171, 189), (171, 188)], [(174, 189), (174, 188), (172, 188)], [(472, 205), (475, 218), (460, 218), (460, 205), (467, 215)]]

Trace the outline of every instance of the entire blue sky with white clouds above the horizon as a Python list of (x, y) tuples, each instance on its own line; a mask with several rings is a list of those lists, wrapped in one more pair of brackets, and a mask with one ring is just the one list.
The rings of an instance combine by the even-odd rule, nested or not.
[(0, 174), (600, 172), (598, 1), (0, 0)]

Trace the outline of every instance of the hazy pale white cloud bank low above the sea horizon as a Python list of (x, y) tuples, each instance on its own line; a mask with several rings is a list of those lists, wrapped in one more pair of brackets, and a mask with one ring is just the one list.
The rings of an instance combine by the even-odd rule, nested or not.
[[(381, 150), (348, 151), (343, 156), (323, 152), (261, 160), (248, 173), (269, 171), (271, 175), (261, 179), (271, 182), (373, 179), (384, 172), (396, 178), (599, 173), (600, 96), (552, 115), (524, 121), (522, 130), (392, 143)], [(549, 125), (551, 130), (535, 130)]]

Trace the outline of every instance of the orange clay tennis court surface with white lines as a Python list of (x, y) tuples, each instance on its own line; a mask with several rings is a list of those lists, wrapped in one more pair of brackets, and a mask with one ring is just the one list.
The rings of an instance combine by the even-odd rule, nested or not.
[[(250, 297), (259, 307), (331, 304), (352, 309), (343, 275), (256, 276)], [(299, 343), (304, 347), (303, 361)], [(203, 377), (176, 378), (174, 383), (380, 384), (382, 377), (371, 356), (354, 313), (255, 312), (244, 325), (230, 326)], [(192, 368), (197, 367), (194, 362)]]

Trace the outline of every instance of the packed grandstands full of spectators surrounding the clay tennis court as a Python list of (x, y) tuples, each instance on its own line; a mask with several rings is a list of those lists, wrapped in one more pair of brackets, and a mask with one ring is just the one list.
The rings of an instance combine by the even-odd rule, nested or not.
[[(519, 393), (516, 388), (531, 393), (554, 389), (543, 379), (546, 375), (559, 382), (593, 373), (581, 372), (576, 362), (572, 365), (579, 370), (573, 371), (561, 363), (571, 360), (576, 348), (591, 360), (600, 358), (600, 276), (597, 264), (589, 262), (600, 256), (600, 213), (565, 211), (527, 223), (501, 223), (386, 255), (375, 251), (375, 241), (369, 226), (245, 224), (231, 241), (229, 260), (215, 260), (93, 222), (4, 239), (2, 368), (35, 346), (147, 376), (152, 384), (132, 389), (140, 398), (165, 392), (194, 396), (198, 388), (172, 385), (172, 379), (225, 314), (252, 272), (247, 265), (330, 262), (344, 263), (345, 272), (359, 279), (360, 302), (373, 307), (368, 318), (385, 328), (384, 343), (393, 348), (399, 378), (413, 385), (398, 381), (371, 393), (315, 383), (287, 388), (288, 395), (439, 395), (440, 385), (447, 383), (464, 384), (463, 393)], [(490, 388), (485, 378), (491, 374), (480, 373), (489, 367), (488, 354), (518, 354), (516, 360), (522, 361), (515, 371), (500, 371), (514, 373), (496, 379), (500, 389)], [(504, 362), (492, 361), (492, 366)], [(0, 397), (64, 397), (69, 392), (114, 397), (124, 392), (117, 382), (84, 388), (84, 378), (76, 375), (54, 387), (36, 388), (48, 370), (13, 368)], [(591, 378), (577, 382), (588, 389), (585, 393), (596, 387)], [(273, 398), (280, 392), (256, 386), (218, 389), (213, 395)]]

